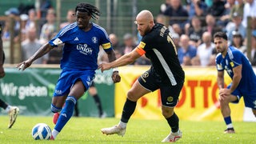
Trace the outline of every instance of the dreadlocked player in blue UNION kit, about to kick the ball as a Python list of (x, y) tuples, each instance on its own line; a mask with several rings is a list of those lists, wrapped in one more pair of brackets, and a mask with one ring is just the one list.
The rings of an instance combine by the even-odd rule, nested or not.
[[(110, 62), (116, 59), (106, 30), (90, 22), (91, 18), (96, 19), (100, 15), (98, 8), (81, 2), (75, 8), (75, 15), (77, 22), (64, 27), (33, 56), (17, 65), (20, 70), (25, 70), (37, 58), (42, 57), (54, 47), (65, 44), (60, 65), (62, 72), (58, 78), (51, 104), (53, 113), (60, 112), (58, 121), (52, 130), (50, 138), (52, 140), (69, 121), (74, 112), (75, 103), (89, 89), (94, 80), (95, 70), (98, 68), (99, 46), (106, 51)], [(113, 70), (112, 79), (113, 82), (120, 82), (118, 71)], [(62, 108), (64, 103), (65, 106)]]

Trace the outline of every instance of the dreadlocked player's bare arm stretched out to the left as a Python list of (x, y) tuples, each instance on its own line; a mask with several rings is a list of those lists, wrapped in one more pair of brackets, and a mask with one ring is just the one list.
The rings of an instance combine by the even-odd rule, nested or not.
[(31, 66), (32, 62), (34, 62), (38, 58), (41, 58), (44, 54), (47, 54), (53, 48), (54, 46), (50, 46), (49, 43), (46, 43), (45, 45), (41, 46), (41, 48), (29, 59), (24, 62), (18, 63), (16, 67), (18, 68), (18, 70), (25, 70), (27, 67)]

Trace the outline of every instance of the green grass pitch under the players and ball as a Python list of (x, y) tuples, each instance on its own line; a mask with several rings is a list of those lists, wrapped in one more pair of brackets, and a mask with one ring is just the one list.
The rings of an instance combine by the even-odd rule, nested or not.
[[(18, 116), (11, 129), (9, 118), (0, 116), (0, 142), (5, 143), (161, 143), (170, 133), (166, 120), (131, 118), (124, 137), (102, 134), (102, 127), (114, 126), (117, 118), (71, 118), (55, 141), (35, 141), (32, 127), (44, 122), (54, 127), (51, 117)], [(236, 134), (223, 134), (224, 122), (180, 121), (182, 138), (177, 143), (256, 143), (255, 122), (234, 122)]]

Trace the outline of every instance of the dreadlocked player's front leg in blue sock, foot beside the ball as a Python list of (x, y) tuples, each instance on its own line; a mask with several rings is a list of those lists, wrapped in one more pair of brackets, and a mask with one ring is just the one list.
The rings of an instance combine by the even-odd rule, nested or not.
[(66, 125), (66, 122), (70, 120), (74, 112), (74, 105), (79, 98), (82, 97), (86, 88), (83, 85), (81, 80), (78, 80), (74, 83), (74, 86), (71, 87), (70, 93), (68, 94), (65, 102), (65, 106), (63, 107), (58, 122), (52, 131), (52, 139), (55, 139), (58, 133), (62, 130), (62, 128)]

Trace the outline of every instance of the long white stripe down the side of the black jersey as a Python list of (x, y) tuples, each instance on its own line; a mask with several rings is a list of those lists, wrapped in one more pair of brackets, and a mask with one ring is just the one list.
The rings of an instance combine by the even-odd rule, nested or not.
[(162, 57), (162, 54), (156, 49), (153, 49), (153, 50), (154, 50), (154, 54), (157, 55), (163, 69), (166, 71), (166, 74), (167, 74), (168, 78), (170, 79), (171, 85), (172, 86), (177, 85), (177, 82), (174, 78), (174, 74), (171, 72), (170, 67), (167, 65), (165, 59)]

